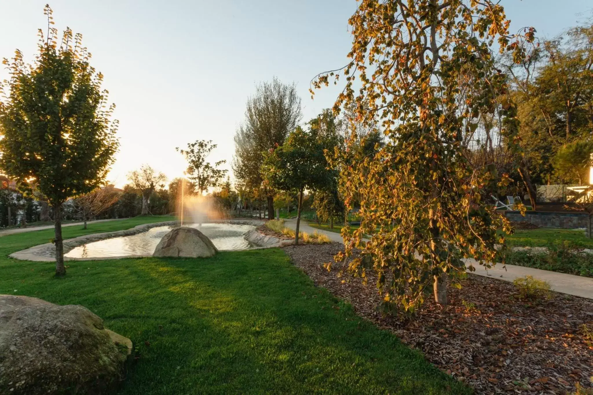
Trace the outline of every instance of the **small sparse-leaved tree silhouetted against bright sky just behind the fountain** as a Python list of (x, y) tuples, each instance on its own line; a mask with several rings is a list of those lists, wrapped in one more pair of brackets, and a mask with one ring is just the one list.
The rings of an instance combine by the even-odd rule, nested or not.
[(193, 143), (187, 144), (187, 149), (175, 148), (185, 156), (187, 163), (187, 174), (197, 187), (200, 195), (209, 187), (216, 187), (218, 183), (224, 178), (228, 170), (219, 169), (221, 164), (227, 163), (222, 160), (216, 162), (214, 165), (206, 162), (206, 158), (216, 148), (216, 144), (212, 144), (212, 140), (196, 140)]

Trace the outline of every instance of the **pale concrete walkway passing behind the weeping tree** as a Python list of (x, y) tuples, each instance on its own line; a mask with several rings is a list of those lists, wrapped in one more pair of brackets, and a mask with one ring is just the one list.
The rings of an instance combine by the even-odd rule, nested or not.
[[(285, 225), (288, 228), (297, 228), (296, 219), (287, 219)], [(313, 228), (308, 225), (307, 221), (302, 221), (299, 227), (302, 232), (313, 233), (314, 231), (326, 234), (331, 241), (337, 241), (343, 243), (342, 237), (339, 233), (330, 232), (326, 230), (320, 230)], [(500, 280), (512, 282), (518, 277), (533, 276), (534, 278), (547, 281), (550, 283), (550, 287), (553, 291), (562, 292), (563, 294), (575, 295), (582, 298), (593, 299), (593, 278), (574, 276), (566, 273), (550, 272), (549, 270), (534, 269), (533, 267), (506, 265), (498, 264), (492, 269), (484, 269), (484, 266), (477, 265), (473, 259), (466, 260), (466, 265), (470, 266), (470, 263), (474, 264), (476, 268), (474, 273), (479, 276), (498, 278)]]

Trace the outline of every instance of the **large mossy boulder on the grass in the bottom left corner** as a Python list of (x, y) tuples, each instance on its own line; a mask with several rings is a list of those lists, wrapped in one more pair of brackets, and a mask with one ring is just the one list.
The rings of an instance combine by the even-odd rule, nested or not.
[(131, 352), (88, 308), (0, 295), (0, 394), (109, 393)]

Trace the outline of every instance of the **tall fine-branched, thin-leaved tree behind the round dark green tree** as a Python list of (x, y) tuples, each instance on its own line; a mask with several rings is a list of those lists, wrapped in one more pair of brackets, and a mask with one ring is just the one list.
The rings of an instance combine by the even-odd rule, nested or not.
[(235, 135), (235, 157), (232, 169), (244, 185), (263, 189), (268, 215), (273, 218), (275, 190), (263, 183), (263, 152), (282, 145), (301, 119), (301, 99), (294, 84), (285, 85), (273, 78), (257, 86), (256, 94), (247, 100), (245, 122)]

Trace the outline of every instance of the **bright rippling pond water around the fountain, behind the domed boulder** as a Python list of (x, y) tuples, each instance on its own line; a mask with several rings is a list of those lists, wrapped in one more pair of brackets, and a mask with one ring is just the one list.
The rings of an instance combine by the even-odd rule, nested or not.
[[(184, 225), (196, 228), (210, 240), (219, 250), (247, 250), (253, 247), (244, 237), (255, 229), (251, 225), (238, 224), (190, 224)], [(134, 235), (108, 238), (75, 247), (64, 254), (69, 258), (100, 258), (128, 255), (152, 255), (161, 238), (173, 227), (156, 227)]]

